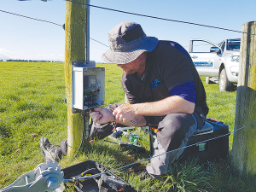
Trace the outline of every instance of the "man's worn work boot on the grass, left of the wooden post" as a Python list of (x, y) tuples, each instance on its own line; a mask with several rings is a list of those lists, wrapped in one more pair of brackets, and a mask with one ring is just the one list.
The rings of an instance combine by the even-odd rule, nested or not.
[(61, 148), (59, 146), (50, 144), (48, 138), (40, 138), (40, 148), (45, 160), (61, 160)]

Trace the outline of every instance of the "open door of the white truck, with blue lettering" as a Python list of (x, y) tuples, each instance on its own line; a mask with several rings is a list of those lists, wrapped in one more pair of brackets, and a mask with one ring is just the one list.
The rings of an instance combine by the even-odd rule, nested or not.
[(218, 77), (222, 50), (217, 44), (203, 39), (192, 39), (190, 40), (189, 55), (199, 75)]

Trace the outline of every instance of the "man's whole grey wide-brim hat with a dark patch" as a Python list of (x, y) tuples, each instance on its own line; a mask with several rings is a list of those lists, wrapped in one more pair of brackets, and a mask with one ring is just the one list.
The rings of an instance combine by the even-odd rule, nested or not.
[(109, 49), (102, 54), (107, 63), (126, 64), (137, 59), (146, 51), (153, 51), (159, 41), (147, 37), (142, 26), (135, 22), (125, 21), (114, 26), (108, 33)]

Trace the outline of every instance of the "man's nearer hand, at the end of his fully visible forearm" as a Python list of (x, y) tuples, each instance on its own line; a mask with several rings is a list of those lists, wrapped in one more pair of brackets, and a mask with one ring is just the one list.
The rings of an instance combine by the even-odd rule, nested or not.
[(116, 119), (119, 119), (119, 121), (129, 122), (137, 116), (134, 106), (135, 105), (132, 104), (123, 104), (113, 110), (113, 115)]

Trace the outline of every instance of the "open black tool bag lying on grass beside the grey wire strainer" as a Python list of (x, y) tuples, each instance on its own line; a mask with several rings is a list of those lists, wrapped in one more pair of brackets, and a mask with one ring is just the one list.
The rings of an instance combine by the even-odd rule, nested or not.
[(129, 183), (126, 183), (124, 180), (122, 180), (112, 172), (109, 172), (107, 168), (98, 164), (94, 160), (86, 160), (77, 165), (64, 168), (62, 169), (62, 171), (64, 172), (65, 179), (86, 177), (103, 172), (108, 172), (105, 174), (101, 174), (98, 177), (91, 177), (86, 180), (79, 180), (77, 182), (67, 183), (67, 185), (73, 185), (74, 189), (78, 192), (137, 191), (136, 189), (133, 189)]

